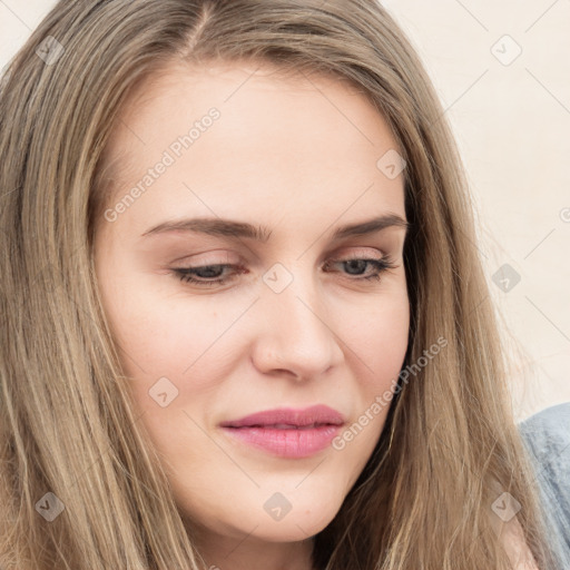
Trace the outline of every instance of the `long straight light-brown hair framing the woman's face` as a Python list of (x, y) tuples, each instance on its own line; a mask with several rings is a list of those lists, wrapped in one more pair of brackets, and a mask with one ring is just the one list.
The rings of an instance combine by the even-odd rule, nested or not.
[[(11, 61), (0, 85), (0, 564), (205, 568), (121, 382), (92, 244), (106, 142), (129, 94), (173, 60), (216, 59), (335, 76), (382, 114), (406, 160), (405, 367), (446, 341), (400, 379), (373, 455), (315, 537), (315, 568), (507, 570), (492, 505), (508, 492), (549, 569), (461, 159), (419, 57), (374, 0), (60, 0)], [(61, 512), (50, 521), (42, 509)]]

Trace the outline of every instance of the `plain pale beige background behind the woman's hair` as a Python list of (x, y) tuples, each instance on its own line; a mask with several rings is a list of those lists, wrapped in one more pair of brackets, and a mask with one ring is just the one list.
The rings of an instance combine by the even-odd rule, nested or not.
[[(53, 4), (0, 0), (0, 68)], [(423, 59), (464, 159), (493, 301), (521, 346), (517, 416), (570, 401), (570, 0), (384, 4)], [(512, 269), (498, 273), (504, 264)]]

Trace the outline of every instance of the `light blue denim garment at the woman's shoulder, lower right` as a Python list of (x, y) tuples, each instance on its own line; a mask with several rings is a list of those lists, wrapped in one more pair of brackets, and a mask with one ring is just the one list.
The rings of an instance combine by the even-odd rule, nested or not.
[(570, 570), (570, 402), (531, 415), (519, 430), (534, 460), (557, 570)]

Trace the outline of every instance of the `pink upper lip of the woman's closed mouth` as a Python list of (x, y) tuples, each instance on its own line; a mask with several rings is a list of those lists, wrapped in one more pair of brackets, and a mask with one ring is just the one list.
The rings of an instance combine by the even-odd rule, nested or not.
[(254, 414), (246, 415), (239, 420), (222, 422), (223, 428), (244, 428), (254, 425), (311, 425), (311, 424), (334, 424), (342, 425), (344, 417), (337, 410), (333, 410), (327, 405), (313, 405), (304, 410), (295, 410), (292, 407), (278, 407), (275, 410), (265, 410)]

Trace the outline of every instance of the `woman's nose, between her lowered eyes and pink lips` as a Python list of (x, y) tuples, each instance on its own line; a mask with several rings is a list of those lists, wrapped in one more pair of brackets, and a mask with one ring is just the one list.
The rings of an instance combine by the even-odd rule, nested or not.
[(326, 318), (325, 302), (311, 277), (295, 276), (281, 293), (262, 287), (256, 303), (261, 325), (252, 360), (264, 374), (317, 377), (343, 360), (335, 322)]

